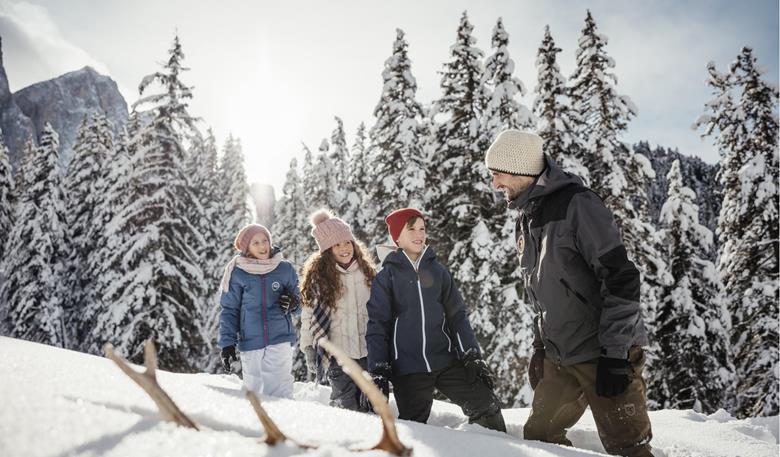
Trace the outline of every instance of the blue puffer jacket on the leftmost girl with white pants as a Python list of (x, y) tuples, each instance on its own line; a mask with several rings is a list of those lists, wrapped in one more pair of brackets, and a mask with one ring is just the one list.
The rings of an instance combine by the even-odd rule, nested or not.
[(285, 290), (300, 299), (298, 275), (290, 262), (282, 260), (279, 266), (264, 275), (235, 267), (230, 276), (230, 287), (220, 298), (219, 347), (238, 343), (238, 350), (245, 352), (272, 344), (294, 344), (292, 317), (283, 313), (279, 306), (279, 296)]

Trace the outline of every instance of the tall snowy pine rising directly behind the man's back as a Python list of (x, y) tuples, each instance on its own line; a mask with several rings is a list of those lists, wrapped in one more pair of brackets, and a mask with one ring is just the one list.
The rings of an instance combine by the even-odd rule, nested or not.
[[(585, 140), (583, 165), (592, 189), (615, 216), (628, 256), (641, 273), (641, 302), (649, 317), (658, 288), (671, 279), (658, 251), (657, 230), (650, 223), (645, 191), (655, 172), (644, 156), (620, 139), (636, 115), (636, 107), (627, 96), (617, 93), (617, 76), (612, 72), (615, 61), (607, 54), (606, 45), (607, 37), (597, 32), (588, 11), (568, 93), (579, 119), (575, 133)], [(652, 339), (652, 321), (646, 321)]]

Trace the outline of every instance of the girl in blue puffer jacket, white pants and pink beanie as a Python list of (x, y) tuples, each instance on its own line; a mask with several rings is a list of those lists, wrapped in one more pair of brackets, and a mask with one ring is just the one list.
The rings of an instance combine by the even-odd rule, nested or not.
[(241, 354), (244, 386), (256, 395), (292, 398), (292, 357), (300, 313), (298, 275), (271, 247), (271, 232), (262, 225), (242, 228), (234, 243), (239, 254), (225, 267), (219, 317), (222, 363), (230, 372)]

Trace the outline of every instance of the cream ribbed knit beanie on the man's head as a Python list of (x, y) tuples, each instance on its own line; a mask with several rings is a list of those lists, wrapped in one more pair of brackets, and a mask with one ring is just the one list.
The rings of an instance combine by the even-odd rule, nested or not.
[(504, 130), (488, 148), (485, 165), (512, 175), (539, 176), (544, 171), (542, 138), (535, 133)]

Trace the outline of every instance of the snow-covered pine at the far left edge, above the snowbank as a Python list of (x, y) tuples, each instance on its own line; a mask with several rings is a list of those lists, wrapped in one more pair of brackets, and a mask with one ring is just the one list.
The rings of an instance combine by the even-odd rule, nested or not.
[(48, 122), (40, 145), (23, 161), (24, 188), (6, 244), (6, 278), (0, 303), (7, 307), (10, 336), (64, 347), (62, 291), (65, 205), (61, 188), (59, 136)]

